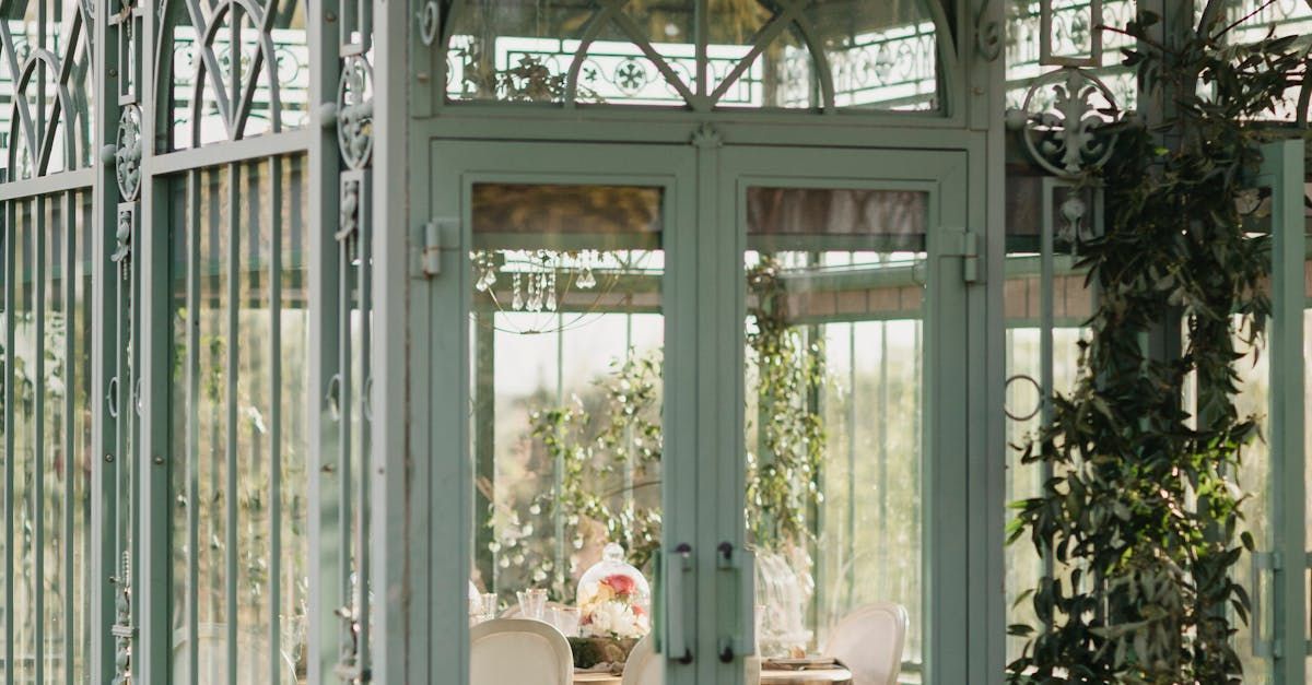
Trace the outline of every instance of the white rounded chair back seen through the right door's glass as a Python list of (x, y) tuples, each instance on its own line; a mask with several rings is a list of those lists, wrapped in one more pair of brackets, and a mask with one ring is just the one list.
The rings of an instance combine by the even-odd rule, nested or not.
[(833, 629), (825, 656), (851, 671), (851, 685), (895, 685), (911, 618), (892, 602), (858, 606)]

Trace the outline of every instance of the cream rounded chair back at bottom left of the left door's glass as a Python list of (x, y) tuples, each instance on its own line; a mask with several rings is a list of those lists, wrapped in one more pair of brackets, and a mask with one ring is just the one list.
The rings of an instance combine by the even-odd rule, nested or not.
[(569, 640), (550, 623), (493, 618), (470, 629), (471, 685), (571, 685)]

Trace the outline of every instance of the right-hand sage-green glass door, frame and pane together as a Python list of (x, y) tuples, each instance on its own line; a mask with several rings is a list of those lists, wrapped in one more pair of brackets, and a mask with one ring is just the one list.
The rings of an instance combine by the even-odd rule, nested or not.
[(754, 592), (745, 572), (719, 576), (722, 596), (743, 596), (716, 629), (722, 660), (754, 647), (762, 682), (789, 659), (837, 659), (858, 681), (966, 682), (980, 274), (964, 155), (719, 154), (718, 228), (733, 245), (718, 259), (716, 291), (732, 294), (720, 354), (736, 362), (715, 391), (736, 399), (715, 402), (737, 420), (707, 426), (733, 457), (706, 496), (722, 503), (726, 559), (754, 554)]

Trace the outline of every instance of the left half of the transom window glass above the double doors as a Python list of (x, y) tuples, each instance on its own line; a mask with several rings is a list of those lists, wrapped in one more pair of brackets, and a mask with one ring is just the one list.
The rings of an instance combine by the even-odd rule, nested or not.
[(560, 102), (577, 68), (580, 102), (682, 106), (697, 91), (694, 4), (636, 0), (606, 16), (605, 3), (586, 0), (466, 3), (454, 18), (447, 97)]

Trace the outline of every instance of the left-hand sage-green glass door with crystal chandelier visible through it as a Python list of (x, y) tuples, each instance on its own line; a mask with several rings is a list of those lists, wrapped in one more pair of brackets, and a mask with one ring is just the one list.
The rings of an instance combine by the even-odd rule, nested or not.
[(691, 682), (693, 151), (450, 142), (434, 159), (437, 230), (459, 226), (462, 257), (436, 301), (463, 303), (437, 320), (466, 322), (466, 392), (436, 392), (434, 415), (467, 434), (446, 509), (467, 554), (434, 559), (468, 600), (436, 633), (462, 635), (472, 684), (560, 664), (618, 682), (626, 660)]

